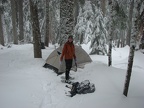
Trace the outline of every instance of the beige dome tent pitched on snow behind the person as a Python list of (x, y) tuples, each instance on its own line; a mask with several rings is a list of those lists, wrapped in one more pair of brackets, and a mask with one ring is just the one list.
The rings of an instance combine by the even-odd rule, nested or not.
[[(50, 68), (54, 70), (57, 74), (62, 74), (65, 72), (65, 60), (60, 63), (60, 56), (63, 46), (55, 49), (46, 59), (46, 63), (43, 67)], [(85, 52), (82, 47), (75, 45), (75, 54), (77, 58), (77, 64), (73, 62), (72, 70), (77, 71), (77, 68), (82, 68), (86, 63), (92, 62), (90, 56)], [(73, 60), (74, 61), (74, 60)]]

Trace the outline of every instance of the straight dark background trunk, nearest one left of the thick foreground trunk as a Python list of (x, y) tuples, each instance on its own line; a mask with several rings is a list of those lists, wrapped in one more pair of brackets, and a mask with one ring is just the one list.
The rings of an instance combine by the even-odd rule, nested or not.
[(19, 12), (19, 41), (24, 42), (23, 0), (18, 0), (18, 12)]

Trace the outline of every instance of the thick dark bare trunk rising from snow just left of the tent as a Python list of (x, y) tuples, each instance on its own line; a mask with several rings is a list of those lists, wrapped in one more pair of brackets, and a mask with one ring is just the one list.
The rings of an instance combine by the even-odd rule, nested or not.
[(34, 4), (32, 0), (29, 0), (29, 3), (30, 3), (30, 13), (31, 13), (32, 29), (33, 29), (34, 58), (42, 58), (38, 9), (37, 9), (37, 5)]

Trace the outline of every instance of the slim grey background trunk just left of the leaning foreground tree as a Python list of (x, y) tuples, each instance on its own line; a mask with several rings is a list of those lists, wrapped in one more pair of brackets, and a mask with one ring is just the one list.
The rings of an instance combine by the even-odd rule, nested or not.
[(130, 38), (131, 38), (133, 8), (134, 8), (134, 0), (132, 0), (131, 3), (130, 3), (128, 31), (127, 31), (127, 37), (126, 37), (126, 44), (129, 45), (129, 46), (130, 46)]

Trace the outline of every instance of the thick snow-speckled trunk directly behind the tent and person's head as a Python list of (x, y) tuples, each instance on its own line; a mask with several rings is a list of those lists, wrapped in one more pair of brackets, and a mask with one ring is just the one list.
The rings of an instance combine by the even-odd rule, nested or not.
[(74, 0), (60, 2), (60, 45), (74, 33)]

